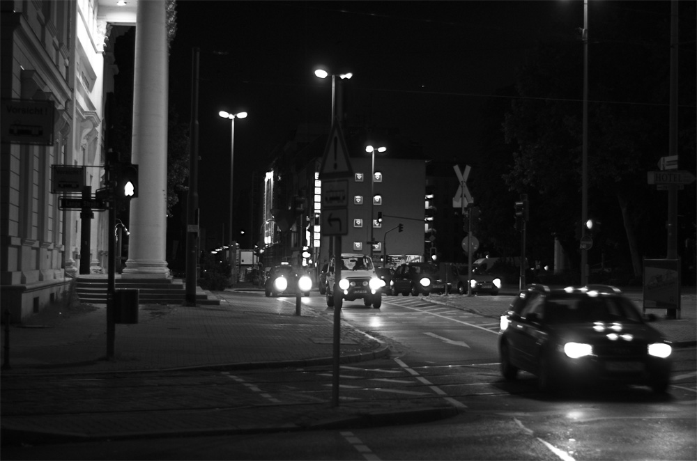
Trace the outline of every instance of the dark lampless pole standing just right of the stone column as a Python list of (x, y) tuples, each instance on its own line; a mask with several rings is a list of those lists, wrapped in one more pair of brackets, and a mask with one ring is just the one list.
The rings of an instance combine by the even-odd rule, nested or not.
[(191, 86), (191, 136), (189, 145), (189, 193), (186, 212), (186, 304), (196, 306), (199, 262), (199, 49), (194, 47)]

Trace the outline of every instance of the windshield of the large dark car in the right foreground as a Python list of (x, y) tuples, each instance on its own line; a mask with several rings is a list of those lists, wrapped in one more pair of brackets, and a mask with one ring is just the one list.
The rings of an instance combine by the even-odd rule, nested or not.
[(642, 322), (638, 309), (621, 297), (551, 299), (547, 302), (546, 317), (551, 324)]

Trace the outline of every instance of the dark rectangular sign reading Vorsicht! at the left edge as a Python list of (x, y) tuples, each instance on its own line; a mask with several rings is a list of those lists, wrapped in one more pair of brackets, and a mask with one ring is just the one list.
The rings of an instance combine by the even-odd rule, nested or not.
[(53, 144), (52, 101), (2, 100), (0, 138), (3, 143)]

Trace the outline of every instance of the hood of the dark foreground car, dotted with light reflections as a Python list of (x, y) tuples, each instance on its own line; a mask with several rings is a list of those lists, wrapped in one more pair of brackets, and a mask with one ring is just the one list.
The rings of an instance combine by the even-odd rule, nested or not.
[(598, 322), (597, 324), (568, 324), (551, 327), (551, 332), (563, 341), (576, 343), (657, 343), (663, 336), (645, 323)]

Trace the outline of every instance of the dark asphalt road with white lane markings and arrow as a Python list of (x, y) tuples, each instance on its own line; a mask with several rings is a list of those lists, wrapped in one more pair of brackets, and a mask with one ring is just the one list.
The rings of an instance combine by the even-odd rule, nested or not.
[[(259, 293), (263, 297), (263, 292)], [(266, 302), (287, 302), (267, 299)], [(487, 302), (492, 302), (488, 299)], [(508, 300), (503, 299), (503, 306)], [(325, 308), (316, 292), (307, 299)], [(293, 433), (185, 437), (52, 446), (3, 447), (3, 460), (694, 460), (696, 351), (677, 350), (669, 393), (648, 387), (584, 389), (546, 396), (532, 375), (504, 382), (498, 372), (498, 324), (456, 308), (416, 297), (384, 297), (380, 309), (347, 302), (345, 322), (390, 345), (384, 359), (340, 368), (340, 398), (376, 405), (385, 400), (428, 400), (454, 405), (459, 416), (433, 423), (383, 428)], [(52, 399), (72, 399), (73, 412), (108, 408), (128, 411), (129, 399), (150, 398), (152, 411), (234, 411), (293, 401), (328, 401), (331, 367), (221, 372), (135, 373), (128, 377), (46, 375), (35, 385), (53, 389), (36, 411), (49, 412)], [(233, 383), (250, 389), (231, 401)], [(187, 394), (208, 396), (192, 408)], [(153, 398), (157, 396), (158, 398)], [(120, 397), (120, 398), (119, 398)], [(107, 405), (112, 402), (111, 405)], [(105, 406), (106, 405), (106, 406)], [(145, 413), (145, 412), (144, 412)], [(144, 414), (144, 417), (146, 415)]]

